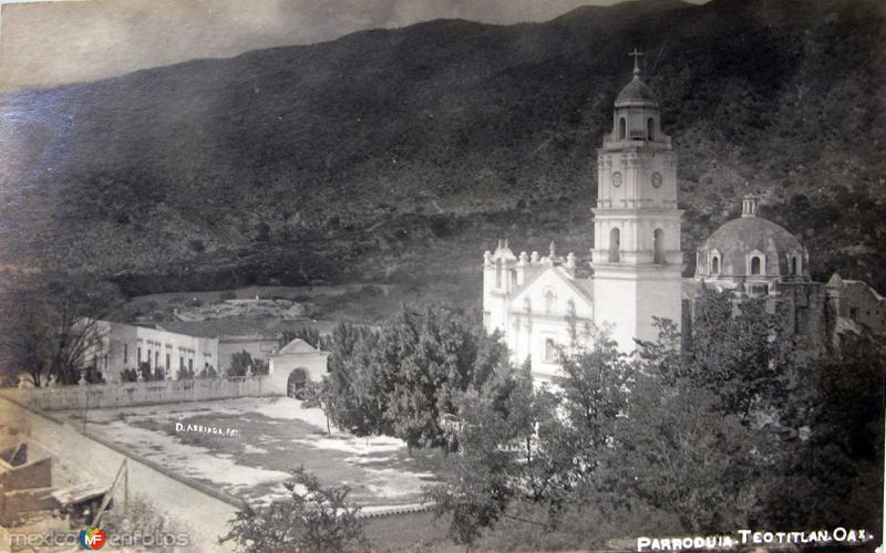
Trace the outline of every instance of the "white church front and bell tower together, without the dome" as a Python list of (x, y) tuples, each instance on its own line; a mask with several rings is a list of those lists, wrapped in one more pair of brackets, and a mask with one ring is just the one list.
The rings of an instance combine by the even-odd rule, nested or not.
[(498, 330), (515, 363), (535, 375), (558, 369), (557, 346), (571, 333), (608, 327), (619, 347), (656, 340), (653, 316), (681, 324), (680, 218), (677, 158), (661, 132), (659, 105), (640, 80), (615, 102), (612, 132), (597, 153), (598, 197), (590, 278), (576, 275), (575, 255), (515, 255), (507, 242), (483, 258), (483, 317)]

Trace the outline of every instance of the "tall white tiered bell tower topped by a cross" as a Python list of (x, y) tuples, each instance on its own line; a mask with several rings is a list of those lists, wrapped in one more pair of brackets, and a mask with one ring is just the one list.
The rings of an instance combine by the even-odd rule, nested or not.
[(615, 103), (612, 132), (597, 150), (594, 225), (594, 320), (610, 326), (625, 352), (633, 338), (655, 341), (653, 316), (681, 322), (680, 218), (677, 157), (661, 132), (658, 101), (633, 79)]

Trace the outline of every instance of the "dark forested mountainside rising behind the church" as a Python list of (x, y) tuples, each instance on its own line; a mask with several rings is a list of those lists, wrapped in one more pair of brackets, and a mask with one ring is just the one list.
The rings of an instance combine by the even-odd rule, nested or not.
[(815, 276), (883, 291), (885, 22), (876, 1), (652, 0), (10, 92), (0, 254), (131, 293), (449, 279), (478, 295), (497, 238), (587, 253), (595, 148), (637, 46), (679, 152), (686, 251), (758, 191)]

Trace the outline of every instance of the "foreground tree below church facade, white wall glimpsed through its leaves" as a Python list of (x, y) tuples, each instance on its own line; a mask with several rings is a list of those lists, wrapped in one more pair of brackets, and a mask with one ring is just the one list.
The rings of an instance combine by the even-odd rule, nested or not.
[(463, 430), (453, 477), (427, 490), (436, 514), (452, 515), (452, 539), (473, 543), (502, 520), (523, 520), (513, 512), (526, 504), (547, 517), (523, 522), (548, 529), (581, 473), (581, 441), (560, 416), (563, 394), (535, 387), (528, 364), (505, 364), (456, 405)]

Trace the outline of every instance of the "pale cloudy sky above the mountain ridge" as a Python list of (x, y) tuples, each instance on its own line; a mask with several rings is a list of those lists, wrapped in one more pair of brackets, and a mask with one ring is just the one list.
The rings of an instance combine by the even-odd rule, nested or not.
[(439, 18), (547, 21), (618, 0), (0, 0), (0, 91), (309, 44)]

